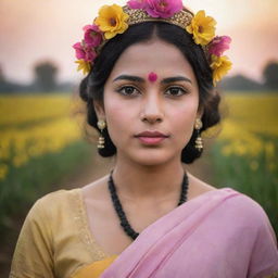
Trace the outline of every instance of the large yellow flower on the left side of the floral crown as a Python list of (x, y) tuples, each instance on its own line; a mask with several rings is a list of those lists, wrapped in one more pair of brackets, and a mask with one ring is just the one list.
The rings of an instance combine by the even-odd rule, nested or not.
[(127, 28), (128, 14), (124, 13), (122, 7), (117, 4), (103, 5), (99, 11), (99, 16), (94, 24), (104, 31), (105, 39), (111, 39), (117, 34), (123, 34)]

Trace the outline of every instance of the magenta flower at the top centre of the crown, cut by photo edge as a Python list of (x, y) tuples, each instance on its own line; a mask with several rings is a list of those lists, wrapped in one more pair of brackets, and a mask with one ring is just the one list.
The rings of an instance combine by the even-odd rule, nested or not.
[(147, 13), (152, 17), (167, 18), (182, 9), (181, 0), (146, 0)]

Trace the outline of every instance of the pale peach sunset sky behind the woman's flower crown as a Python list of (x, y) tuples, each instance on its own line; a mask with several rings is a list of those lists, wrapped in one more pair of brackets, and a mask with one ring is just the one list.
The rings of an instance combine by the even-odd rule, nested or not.
[[(114, 0), (0, 0), (0, 65), (9, 79), (29, 83), (33, 66), (45, 60), (60, 67), (60, 80), (78, 80), (72, 45), (102, 4)], [(260, 80), (262, 67), (278, 61), (278, 0), (184, 0), (193, 12), (205, 10), (217, 21), (217, 35), (232, 38), (226, 52), (230, 76), (242, 73)]]

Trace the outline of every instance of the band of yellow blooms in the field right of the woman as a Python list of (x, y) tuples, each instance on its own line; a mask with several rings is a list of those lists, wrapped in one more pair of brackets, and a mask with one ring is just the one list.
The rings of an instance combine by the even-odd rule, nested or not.
[(277, 170), (278, 93), (227, 94), (223, 99), (224, 121), (217, 141), (224, 156), (244, 156), (251, 169), (264, 155), (269, 170)]

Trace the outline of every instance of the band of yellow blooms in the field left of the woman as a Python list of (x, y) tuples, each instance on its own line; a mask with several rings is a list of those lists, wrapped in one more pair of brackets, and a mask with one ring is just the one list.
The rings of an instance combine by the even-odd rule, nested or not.
[(0, 97), (0, 180), (11, 166), (80, 140), (79, 103), (68, 94)]

